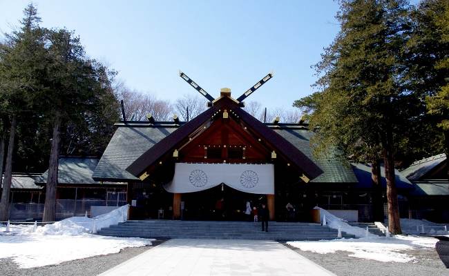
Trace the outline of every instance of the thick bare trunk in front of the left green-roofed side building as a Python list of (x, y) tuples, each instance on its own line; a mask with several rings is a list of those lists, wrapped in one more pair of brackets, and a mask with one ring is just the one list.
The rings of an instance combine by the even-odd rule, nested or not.
[(58, 182), (59, 165), (59, 127), (61, 126), (61, 117), (55, 116), (53, 122), (53, 135), (50, 149), (50, 160), (48, 161), (48, 176), (46, 184), (44, 215), (42, 221), (55, 221), (56, 218), (56, 188)]

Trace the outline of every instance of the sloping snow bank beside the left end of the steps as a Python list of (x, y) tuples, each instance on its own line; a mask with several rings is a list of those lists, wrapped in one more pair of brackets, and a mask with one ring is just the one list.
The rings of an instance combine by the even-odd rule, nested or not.
[(81, 233), (92, 233), (93, 228), (97, 230), (107, 228), (126, 220), (128, 216), (128, 205), (112, 210), (109, 213), (98, 215), (94, 218), (69, 217), (38, 228), (37, 232), (44, 235), (79, 235)]

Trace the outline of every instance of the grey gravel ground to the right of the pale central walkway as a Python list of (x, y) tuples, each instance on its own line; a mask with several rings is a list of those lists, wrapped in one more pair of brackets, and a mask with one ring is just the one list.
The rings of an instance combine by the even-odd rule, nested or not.
[(443, 265), (438, 257), (437, 251), (434, 249), (406, 251), (406, 254), (413, 255), (417, 258), (417, 263), (385, 263), (369, 259), (348, 257), (348, 253), (343, 251), (338, 251), (334, 254), (318, 254), (302, 251), (292, 246), (287, 247), (298, 252), (312, 262), (332, 271), (338, 276), (449, 275), (449, 269)]

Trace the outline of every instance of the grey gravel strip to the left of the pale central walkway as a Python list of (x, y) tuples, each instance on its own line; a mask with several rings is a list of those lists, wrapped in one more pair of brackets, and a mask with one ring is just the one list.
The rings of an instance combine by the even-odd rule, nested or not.
[(162, 241), (154, 241), (152, 243), (152, 246), (124, 248), (120, 253), (89, 257), (86, 259), (75, 259), (74, 261), (64, 262), (55, 266), (42, 266), (37, 268), (21, 269), (11, 259), (0, 259), (0, 275), (94, 276), (161, 244)]

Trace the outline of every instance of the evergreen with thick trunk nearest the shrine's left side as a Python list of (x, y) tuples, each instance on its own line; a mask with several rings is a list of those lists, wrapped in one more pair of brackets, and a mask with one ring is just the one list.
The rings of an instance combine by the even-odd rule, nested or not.
[[(55, 220), (61, 127), (75, 126), (84, 135), (95, 132), (98, 138), (104, 124), (117, 119), (110, 114), (118, 113), (111, 90), (111, 72), (101, 63), (86, 58), (79, 37), (65, 29), (48, 30), (48, 40), (48, 92), (38, 95), (40, 109), (52, 126), (42, 221)], [(112, 113), (106, 117), (108, 110)], [(82, 135), (78, 138), (85, 139)]]

